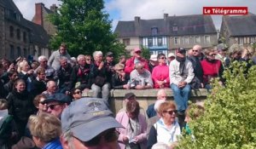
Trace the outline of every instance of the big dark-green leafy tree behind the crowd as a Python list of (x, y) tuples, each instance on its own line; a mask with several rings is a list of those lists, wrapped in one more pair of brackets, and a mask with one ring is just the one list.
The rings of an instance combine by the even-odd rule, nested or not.
[(73, 56), (92, 54), (96, 50), (103, 53), (112, 51), (119, 54), (125, 46), (116, 40), (111, 32), (111, 21), (103, 12), (102, 0), (61, 0), (58, 14), (50, 14), (49, 20), (57, 27), (50, 40), (50, 47), (58, 49), (67, 43), (68, 52)]

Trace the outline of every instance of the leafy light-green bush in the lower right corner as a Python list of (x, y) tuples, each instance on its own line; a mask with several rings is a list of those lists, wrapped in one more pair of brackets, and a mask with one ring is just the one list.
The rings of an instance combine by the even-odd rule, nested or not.
[(205, 113), (189, 122), (195, 140), (183, 135), (177, 148), (256, 148), (256, 66), (234, 62), (224, 72), (225, 87), (214, 83), (205, 100)]

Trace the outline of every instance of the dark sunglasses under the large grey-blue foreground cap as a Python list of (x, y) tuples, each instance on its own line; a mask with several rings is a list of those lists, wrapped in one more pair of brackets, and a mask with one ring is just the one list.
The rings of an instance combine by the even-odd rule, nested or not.
[(113, 142), (115, 140), (118, 140), (119, 132), (115, 129), (108, 129), (107, 131), (102, 132), (102, 134), (97, 135), (91, 140), (81, 142), (84, 144), (84, 146), (97, 146), (99, 145), (102, 138), (104, 138), (104, 140), (107, 142)]

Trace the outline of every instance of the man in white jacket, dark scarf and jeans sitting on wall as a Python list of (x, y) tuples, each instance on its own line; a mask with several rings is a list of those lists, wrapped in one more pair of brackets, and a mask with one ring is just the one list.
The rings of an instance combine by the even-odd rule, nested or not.
[(188, 107), (191, 90), (189, 83), (191, 83), (195, 76), (192, 63), (186, 60), (185, 49), (180, 48), (176, 50), (176, 59), (172, 60), (169, 66), (169, 75), (178, 116), (181, 116), (179, 122), (183, 126), (184, 112)]

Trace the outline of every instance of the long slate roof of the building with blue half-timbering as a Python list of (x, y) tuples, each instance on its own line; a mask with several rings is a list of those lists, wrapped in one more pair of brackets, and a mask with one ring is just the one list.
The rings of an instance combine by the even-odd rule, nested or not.
[[(172, 27), (177, 26), (177, 31)], [(115, 28), (115, 33), (119, 37), (147, 37), (151, 35), (151, 29), (157, 27), (157, 36), (183, 36), (217, 33), (212, 21), (212, 17), (203, 14), (168, 16), (166, 20), (139, 20), (137, 26), (135, 20), (119, 21)]]

